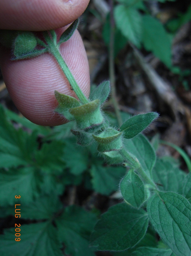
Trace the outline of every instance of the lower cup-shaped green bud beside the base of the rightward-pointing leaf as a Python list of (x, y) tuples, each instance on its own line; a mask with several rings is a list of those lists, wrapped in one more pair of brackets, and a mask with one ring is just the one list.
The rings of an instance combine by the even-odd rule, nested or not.
[(98, 151), (101, 153), (119, 150), (123, 146), (122, 132), (113, 128), (107, 128), (101, 134), (93, 135), (93, 138), (98, 142)]

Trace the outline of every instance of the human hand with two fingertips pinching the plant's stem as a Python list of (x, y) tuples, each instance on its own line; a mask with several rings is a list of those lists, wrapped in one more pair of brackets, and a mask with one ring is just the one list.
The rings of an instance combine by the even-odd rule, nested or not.
[[(0, 2), (0, 29), (43, 31), (56, 29), (60, 36), (67, 24), (86, 9), (89, 0), (3, 0)], [(62, 28), (60, 28), (62, 27)], [(82, 39), (77, 31), (60, 46), (60, 53), (86, 96), (89, 94), (89, 67)], [(33, 59), (10, 61), (10, 50), (1, 47), (0, 65), (5, 84), (18, 110), (30, 121), (54, 126), (64, 118), (54, 112), (54, 90), (72, 95), (69, 83), (50, 54)]]

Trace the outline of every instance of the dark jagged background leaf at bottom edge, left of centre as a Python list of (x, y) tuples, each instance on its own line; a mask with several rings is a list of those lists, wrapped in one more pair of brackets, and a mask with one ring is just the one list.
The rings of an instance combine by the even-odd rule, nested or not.
[(65, 246), (65, 253), (72, 256), (94, 256), (89, 248), (89, 236), (95, 225), (95, 215), (79, 206), (68, 206), (56, 219), (58, 237)]

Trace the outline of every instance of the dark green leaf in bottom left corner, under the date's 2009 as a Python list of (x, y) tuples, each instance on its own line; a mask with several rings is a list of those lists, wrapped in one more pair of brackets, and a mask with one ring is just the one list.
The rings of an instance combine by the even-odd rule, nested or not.
[[(62, 256), (57, 232), (49, 222), (21, 225), (20, 237), (15, 228), (5, 229), (0, 235), (1, 256)], [(20, 238), (19, 242), (15, 238)]]

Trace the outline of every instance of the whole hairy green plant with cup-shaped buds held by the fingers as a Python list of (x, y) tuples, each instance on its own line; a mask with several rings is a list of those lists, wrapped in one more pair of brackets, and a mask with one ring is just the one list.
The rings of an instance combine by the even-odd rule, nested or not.
[[(78, 98), (55, 91), (58, 101), (55, 111), (68, 121), (75, 122), (75, 129), (71, 132), (77, 137), (78, 144), (86, 146), (96, 143), (97, 151), (108, 163), (127, 166), (127, 173), (120, 183), (124, 203), (112, 206), (101, 216), (94, 227), (90, 245), (96, 250), (130, 249), (132, 255), (166, 256), (174, 253), (189, 256), (191, 255), (189, 201), (191, 176), (185, 177), (181, 191), (183, 195), (179, 194), (179, 191), (166, 192), (160, 189), (160, 184), (158, 186), (153, 177), (156, 156), (148, 140), (143, 135), (139, 135), (142, 148), (139, 148), (137, 153), (131, 151), (132, 143), (136, 143), (131, 139), (155, 120), (158, 117), (157, 113), (133, 116), (121, 127), (115, 128), (110, 125), (102, 110), (102, 105), (110, 93), (109, 82), (101, 83), (90, 93), (89, 98), (86, 98), (59, 52), (59, 46), (72, 36), (77, 26), (78, 19), (67, 28), (59, 40), (53, 30), (43, 32), (44, 41), (33, 32), (5, 31), (2, 42), (12, 47), (13, 60), (34, 58), (43, 53), (53, 55)], [(149, 155), (150, 160), (144, 161), (145, 155), (147, 158)], [(160, 161), (158, 164), (159, 167), (162, 166)], [(155, 165), (155, 169), (157, 168), (158, 166)], [(152, 247), (148, 243), (144, 245), (143, 241), (149, 236), (148, 229), (152, 229), (151, 227), (154, 227), (166, 245), (163, 244), (163, 247)], [(139, 246), (140, 242), (142, 244)]]

